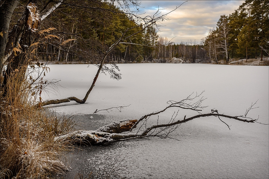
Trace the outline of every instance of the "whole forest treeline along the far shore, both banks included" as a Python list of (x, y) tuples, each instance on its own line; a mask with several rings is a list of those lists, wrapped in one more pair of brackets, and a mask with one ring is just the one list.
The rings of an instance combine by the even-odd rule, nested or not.
[[(120, 13), (120, 8), (111, 1), (84, 3), (85, 7), (91, 4), (111, 11), (92, 9), (89, 13), (83, 4), (79, 8), (55, 11), (41, 27), (44, 33), (51, 29), (52, 35), (40, 45), (39, 59), (98, 63), (125, 29), (139, 26), (128, 15)], [(183, 63), (218, 63), (218, 60), (228, 63), (230, 58), (260, 57), (262, 60), (268, 56), (269, 49), (269, 1), (245, 1), (234, 13), (220, 16), (216, 27), (200, 42), (190, 40), (175, 44), (158, 36), (154, 27), (143, 28), (141, 25), (130, 30), (129, 34), (140, 32), (126, 40), (130, 44), (119, 44), (111, 51), (106, 63), (165, 63), (174, 57)]]

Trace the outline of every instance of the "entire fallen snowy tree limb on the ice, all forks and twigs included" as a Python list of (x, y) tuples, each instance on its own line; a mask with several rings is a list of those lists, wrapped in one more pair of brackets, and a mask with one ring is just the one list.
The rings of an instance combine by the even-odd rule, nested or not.
[[(152, 112), (148, 115), (144, 115), (139, 120), (131, 119), (131, 120), (126, 120), (126, 121), (115, 122), (113, 124), (100, 127), (99, 129), (94, 130), (94, 131), (86, 131), (86, 130), (74, 131), (69, 134), (56, 137), (55, 140), (69, 141), (69, 142), (73, 142), (80, 145), (81, 144), (100, 145), (103, 143), (124, 141), (124, 140), (145, 138), (145, 137), (153, 137), (153, 136), (159, 137), (159, 138), (171, 138), (169, 137), (169, 134), (171, 134), (171, 132), (177, 129), (182, 123), (191, 121), (196, 118), (215, 116), (215, 117), (218, 117), (219, 120), (221, 120), (220, 117), (224, 117), (224, 118), (235, 119), (237, 121), (242, 121), (242, 122), (247, 122), (247, 123), (254, 123), (254, 122), (257, 122), (257, 120), (259, 119), (259, 118), (252, 119), (252, 118), (247, 117), (247, 112), (249, 112), (250, 109), (255, 109), (253, 106), (256, 103), (251, 104), (251, 107), (247, 109), (247, 112), (245, 113), (245, 115), (231, 116), (231, 115), (219, 114), (218, 110), (216, 109), (215, 110), (211, 109), (210, 113), (202, 114), (200, 111), (204, 107), (201, 106), (201, 101), (203, 101), (204, 98), (201, 97), (201, 94), (198, 95), (196, 93), (194, 97), (189, 95), (186, 99), (181, 100), (179, 102), (168, 101), (167, 103), (170, 105), (167, 106), (165, 109), (161, 111), (157, 111), (157, 112)], [(197, 100), (192, 102), (196, 98)], [(185, 115), (183, 119), (175, 120), (179, 112), (178, 110), (178, 112), (174, 112), (174, 114), (172, 115), (172, 118), (170, 119), (168, 123), (159, 124), (159, 116), (158, 116), (157, 124), (147, 127), (147, 121), (149, 120), (150, 116), (158, 115), (159, 113), (165, 111), (169, 107), (179, 107), (181, 109), (195, 110), (198, 112), (198, 115), (194, 115), (189, 118), (186, 118), (186, 115)], [(103, 109), (103, 110), (106, 110), (106, 109)], [(222, 122), (226, 124), (224, 121)], [(262, 124), (262, 123), (259, 123), (259, 124)], [(132, 130), (135, 129), (137, 125), (139, 125), (139, 127), (138, 129), (136, 129), (136, 132), (132, 132)], [(230, 126), (228, 124), (226, 125), (230, 129)]]

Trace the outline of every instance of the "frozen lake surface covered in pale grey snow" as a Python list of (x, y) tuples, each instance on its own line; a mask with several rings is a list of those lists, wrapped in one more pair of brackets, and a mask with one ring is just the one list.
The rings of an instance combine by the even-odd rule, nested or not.
[[(48, 79), (60, 79), (59, 93), (42, 99), (69, 96), (83, 98), (91, 86), (97, 67), (82, 64), (49, 65)], [(68, 115), (92, 114), (96, 109), (127, 106), (88, 124), (97, 128), (123, 119), (139, 119), (162, 110), (169, 100), (180, 101), (192, 92), (202, 92), (203, 113), (215, 108), (227, 115), (244, 115), (251, 103), (259, 108), (249, 112), (258, 122), (269, 123), (269, 67), (210, 64), (119, 64), (122, 80), (100, 74), (85, 104), (70, 102), (51, 105), (50, 109)], [(57, 106), (57, 107), (56, 107)], [(56, 107), (56, 108), (55, 108)], [(177, 109), (159, 115), (169, 121)], [(180, 110), (176, 119), (196, 115)], [(157, 118), (157, 117), (156, 117)], [(151, 117), (152, 124), (156, 118)], [(198, 118), (182, 124), (173, 139), (148, 138), (114, 143), (110, 146), (82, 147), (83, 158), (74, 170), (84, 176), (99, 163), (120, 158), (126, 178), (269, 178), (269, 125), (244, 123), (218, 118)], [(79, 152), (78, 152), (79, 153)], [(81, 152), (80, 152), (81, 154)], [(67, 177), (68, 178), (68, 177)]]

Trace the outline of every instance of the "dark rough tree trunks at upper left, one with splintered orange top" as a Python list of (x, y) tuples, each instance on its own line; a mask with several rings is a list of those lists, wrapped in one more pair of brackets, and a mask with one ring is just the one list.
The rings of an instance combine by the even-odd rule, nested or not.
[[(13, 3), (12, 8), (16, 8), (16, 6), (19, 4), (19, 1), (7, 1), (7, 2), (9, 2), (9, 9), (11, 8), (10, 4)], [(51, 7), (44, 15), (42, 15), (42, 17), (39, 16), (39, 11), (37, 10), (36, 4), (31, 3), (30, 1), (27, 3), (27, 6), (25, 7), (25, 11), (22, 13), (22, 17), (14, 26), (13, 30), (11, 30), (11, 32), (8, 34), (8, 41), (5, 42), (6, 43), (5, 47), (3, 47), (5, 48), (4, 51), (7, 53), (7, 55), (5, 55), (4, 58), (1, 57), (1, 69), (3, 68), (4, 61), (7, 59), (6, 56), (9, 56), (9, 58), (10, 58), (10, 55), (14, 57), (14, 59), (9, 61), (7, 65), (7, 69), (4, 74), (4, 81), (3, 83), (1, 83), (2, 88), (3, 88), (3, 96), (7, 95), (8, 78), (10, 78), (14, 70), (18, 70), (19, 73), (21, 74), (18, 79), (19, 81), (17, 81), (20, 86), (20, 81), (22, 80), (22, 78), (24, 78), (27, 65), (30, 63), (30, 59), (27, 58), (27, 55), (29, 55), (30, 46), (36, 42), (35, 38), (36, 38), (37, 31), (40, 25), (40, 21), (46, 18), (51, 12), (53, 12), (55, 8), (61, 4), (61, 2), (62, 1), (58, 2), (53, 7)], [(51, 3), (51, 1), (49, 1), (48, 3)], [(4, 5), (5, 3), (1, 6), (2, 14), (0, 18), (5, 19), (5, 21), (9, 21), (8, 22), (8, 25), (9, 25), (10, 19), (11, 19), (9, 17), (10, 16), (9, 13), (11, 13), (12, 9), (9, 11), (4, 11), (5, 10)], [(45, 9), (43, 9), (42, 11), (44, 10)], [(5, 15), (3, 13), (7, 13), (7, 14)], [(6, 24), (1, 23), (1, 25), (6, 25)], [(16, 48), (19, 44), (20, 44), (19, 46), (20, 53), (19, 55), (17, 55), (13, 53), (13, 50), (14, 50), (14, 47)], [(1, 49), (1, 52), (4, 52), (4, 51), (2, 51)]]

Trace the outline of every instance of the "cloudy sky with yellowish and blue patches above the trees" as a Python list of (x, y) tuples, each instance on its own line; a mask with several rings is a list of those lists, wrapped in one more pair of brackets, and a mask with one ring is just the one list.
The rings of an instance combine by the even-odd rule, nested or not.
[[(140, 13), (153, 15), (158, 6), (162, 13), (168, 13), (184, 1), (141, 1)], [(167, 15), (170, 21), (163, 22), (159, 33), (162, 37), (179, 44), (181, 41), (196, 40), (206, 37), (210, 28), (216, 27), (221, 15), (233, 13), (244, 1), (187, 1), (177, 10)]]

